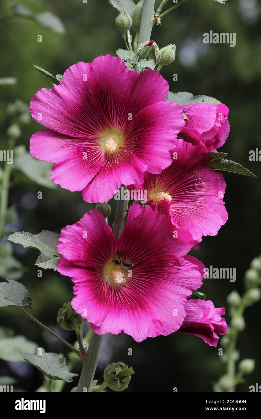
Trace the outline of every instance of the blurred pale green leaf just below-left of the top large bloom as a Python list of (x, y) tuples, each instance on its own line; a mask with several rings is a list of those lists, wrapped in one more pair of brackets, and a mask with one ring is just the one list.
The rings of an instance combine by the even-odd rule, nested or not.
[(18, 155), (13, 161), (13, 169), (21, 171), (26, 179), (46, 188), (55, 189), (57, 186), (50, 178), (52, 166), (52, 163), (33, 158), (28, 152)]

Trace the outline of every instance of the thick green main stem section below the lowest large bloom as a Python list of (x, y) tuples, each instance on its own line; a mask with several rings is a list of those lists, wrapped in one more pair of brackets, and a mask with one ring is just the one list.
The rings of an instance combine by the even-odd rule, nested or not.
[(102, 339), (103, 335), (97, 335), (96, 333), (92, 332), (90, 344), (86, 355), (87, 359), (83, 359), (83, 369), (76, 389), (77, 392), (81, 392), (85, 388), (87, 392), (90, 392), (93, 377), (98, 363)]

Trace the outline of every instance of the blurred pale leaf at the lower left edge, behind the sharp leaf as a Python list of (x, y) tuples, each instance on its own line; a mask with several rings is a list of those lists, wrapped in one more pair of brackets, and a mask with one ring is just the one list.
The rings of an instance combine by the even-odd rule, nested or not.
[(20, 351), (33, 354), (37, 346), (36, 343), (28, 341), (24, 336), (2, 338), (0, 341), (0, 358), (8, 362), (21, 362), (24, 359)]

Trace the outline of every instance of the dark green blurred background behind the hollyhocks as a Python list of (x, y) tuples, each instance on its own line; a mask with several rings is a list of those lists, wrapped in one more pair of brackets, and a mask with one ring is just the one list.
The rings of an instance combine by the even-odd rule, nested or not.
[[(171, 7), (172, 1), (168, 3)], [(261, 7), (256, 0), (227, 0), (226, 3), (191, 0), (165, 16), (161, 26), (155, 25), (152, 29), (152, 39), (160, 48), (176, 44), (176, 60), (161, 70), (170, 91), (205, 94), (225, 103), (230, 108), (231, 130), (227, 142), (218, 151), (228, 153), (227, 158), (240, 162), (258, 176), (224, 173), (228, 221), (217, 236), (203, 238), (199, 250), (192, 252), (207, 267), (236, 268), (235, 282), (204, 280), (202, 291), (216, 307), (227, 306), (226, 297), (233, 289), (242, 292), (243, 275), (251, 260), (261, 254), (261, 162), (249, 161), (249, 151), (261, 148)], [(121, 34), (114, 24), (118, 12), (106, 0), (88, 0), (87, 3), (82, 0), (20, 1), (33, 13), (54, 13), (62, 22), (54, 23), (56, 31), (39, 25), (34, 19), (15, 17), (11, 12), (14, 4), (14, 1), (3, 0), (0, 10), (0, 77), (17, 79), (16, 84), (0, 86), (1, 150), (6, 149), (6, 130), (16, 112), (10, 103), (16, 103), (18, 109), (19, 101), (23, 101), (23, 105), (20, 103), (23, 108), (40, 88), (52, 87), (32, 64), (53, 75), (63, 74), (75, 62), (91, 62), (98, 55), (108, 53), (116, 55), (116, 49), (123, 48)], [(203, 44), (203, 34), (210, 30), (235, 32), (236, 46)], [(42, 42), (37, 41), (39, 34)], [(134, 33), (132, 35), (134, 37)], [(173, 74), (178, 75), (178, 81), (173, 81)], [(26, 114), (26, 110), (22, 113)], [(26, 118), (24, 116), (25, 123), (21, 124), (22, 134), (17, 145), (24, 145), (28, 151), (31, 135), (42, 126), (31, 117)], [(9, 205), (18, 215), (11, 220), (10, 232), (36, 234), (52, 230), (59, 233), (62, 227), (78, 221), (94, 207), (83, 202), (80, 192), (72, 193), (59, 186), (46, 187), (50, 186), (48, 178), (39, 185), (34, 182), (34, 173), (22, 172), (26, 170), (13, 171)], [(37, 199), (39, 191), (42, 199)], [(111, 206), (110, 224), (115, 201), (111, 201)], [(24, 271), (20, 280), (34, 299), (33, 316), (73, 344), (74, 332), (59, 328), (56, 322), (57, 311), (73, 296), (70, 279), (48, 269), (43, 269), (42, 277), (38, 277), (39, 268), (34, 263), (39, 252), (19, 245), (14, 245), (13, 249), (18, 261), (15, 270), (21, 272), (21, 262)], [(4, 272), (2, 277), (6, 275), (8, 273)], [(246, 328), (240, 334), (238, 349), (241, 359), (256, 360), (256, 369), (247, 376), (246, 383), (238, 385), (237, 391), (249, 391), (249, 385), (261, 384), (260, 307), (258, 303), (245, 313)], [(1, 309), (0, 316), (1, 325), (12, 328), (15, 334), (26, 336), (47, 352), (67, 354), (66, 347), (43, 333), (39, 326), (22, 316), (19, 309)], [(95, 378), (101, 383), (104, 367), (122, 361), (135, 371), (127, 391), (165, 392), (173, 391), (174, 387), (185, 392), (212, 391), (213, 383), (225, 372), (218, 347), (209, 347), (196, 336), (178, 333), (149, 338), (139, 344), (130, 336), (109, 334), (103, 340)], [(128, 355), (129, 348), (132, 348), (132, 356)], [(74, 372), (80, 373), (80, 364)], [(35, 391), (43, 382), (41, 372), (26, 362), (0, 360), (0, 376), (12, 376), (17, 387), (24, 391)], [(64, 391), (71, 388), (71, 384), (66, 384)]]

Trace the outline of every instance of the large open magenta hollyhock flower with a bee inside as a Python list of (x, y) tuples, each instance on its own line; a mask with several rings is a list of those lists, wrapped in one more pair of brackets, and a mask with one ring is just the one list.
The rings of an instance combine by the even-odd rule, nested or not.
[[(188, 231), (149, 205), (132, 204), (119, 240), (100, 212), (91, 209), (62, 229), (57, 269), (72, 277), (72, 307), (93, 331), (124, 331), (140, 342), (181, 327), (186, 300), (202, 285), (204, 266), (183, 257), (192, 246)], [(118, 259), (128, 266), (115, 264)]]

